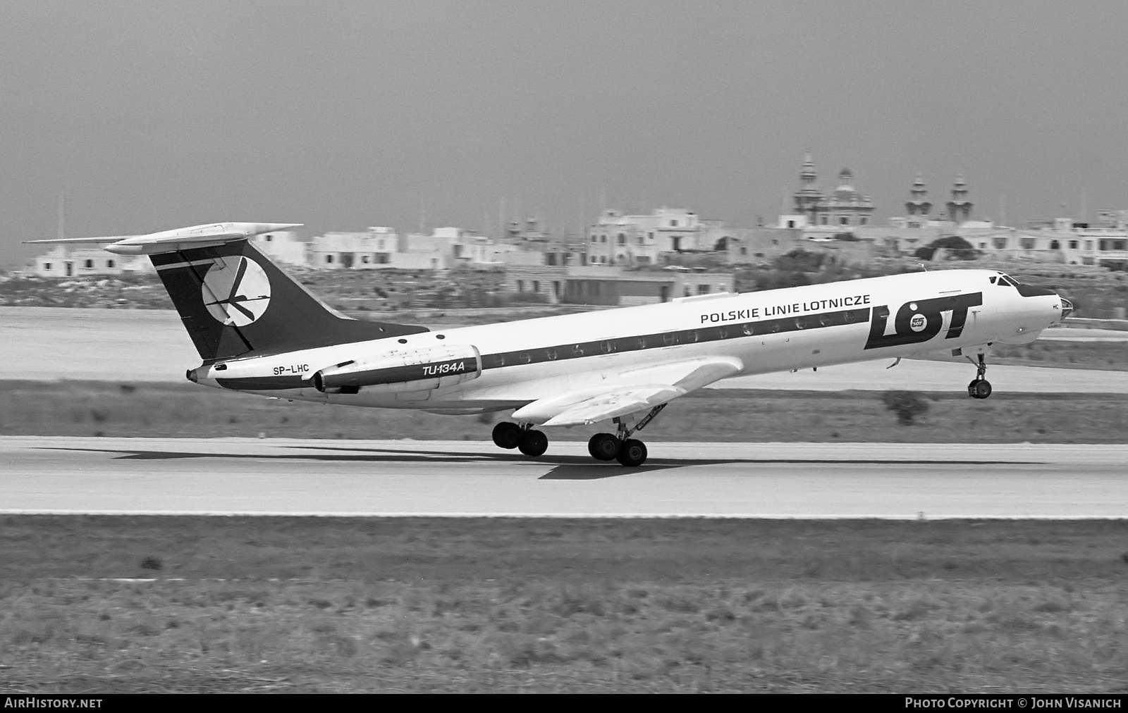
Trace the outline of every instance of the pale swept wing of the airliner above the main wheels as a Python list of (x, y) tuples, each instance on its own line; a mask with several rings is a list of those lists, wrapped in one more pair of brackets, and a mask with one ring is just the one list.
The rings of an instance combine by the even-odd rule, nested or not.
[(583, 425), (653, 408), (743, 368), (722, 356), (693, 359), (625, 371), (602, 391), (575, 391), (535, 400), (513, 412), (513, 419), (544, 425)]

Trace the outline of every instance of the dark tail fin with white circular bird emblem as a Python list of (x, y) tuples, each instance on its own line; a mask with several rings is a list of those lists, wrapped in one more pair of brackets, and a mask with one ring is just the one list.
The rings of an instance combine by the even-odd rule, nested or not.
[(205, 362), (428, 332), (341, 315), (246, 239), (177, 247), (150, 258)]

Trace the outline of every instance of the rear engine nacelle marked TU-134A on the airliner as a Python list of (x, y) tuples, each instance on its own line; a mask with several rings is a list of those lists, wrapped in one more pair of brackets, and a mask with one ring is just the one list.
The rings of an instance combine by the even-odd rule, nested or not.
[(482, 376), (482, 354), (470, 345), (433, 346), (344, 361), (314, 373), (314, 388), (325, 394), (425, 391)]

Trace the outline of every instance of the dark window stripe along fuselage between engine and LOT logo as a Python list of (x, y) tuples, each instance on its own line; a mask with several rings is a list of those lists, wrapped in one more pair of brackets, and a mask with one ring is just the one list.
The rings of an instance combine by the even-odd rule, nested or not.
[(636, 336), (620, 336), (614, 340), (596, 342), (570, 342), (554, 346), (522, 349), (512, 352), (497, 352), (482, 355), (482, 369), (501, 369), (520, 364), (536, 364), (546, 361), (565, 359), (582, 359), (618, 352), (637, 352), (647, 349), (662, 349), (676, 344), (697, 344), (702, 342), (720, 342), (723, 340), (742, 340), (752, 336), (766, 336), (784, 332), (803, 332), (822, 327), (836, 327), (847, 324), (861, 324), (870, 320), (870, 308), (841, 309), (838, 311), (819, 313), (817, 315), (800, 315), (778, 319), (760, 319), (757, 322), (733, 323), (726, 325), (697, 327), (695, 329), (678, 329), (675, 332), (658, 332)]

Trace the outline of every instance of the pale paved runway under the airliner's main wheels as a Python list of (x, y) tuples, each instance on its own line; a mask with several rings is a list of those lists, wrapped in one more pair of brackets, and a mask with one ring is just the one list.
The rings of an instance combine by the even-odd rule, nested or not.
[(1128, 446), (0, 438), (0, 512), (1126, 518)]

